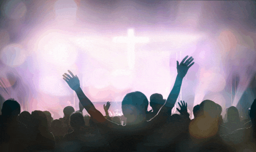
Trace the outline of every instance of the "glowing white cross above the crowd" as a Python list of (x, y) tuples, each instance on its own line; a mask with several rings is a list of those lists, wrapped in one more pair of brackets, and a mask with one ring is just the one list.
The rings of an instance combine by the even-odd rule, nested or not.
[(135, 65), (135, 44), (136, 43), (148, 43), (148, 37), (135, 37), (134, 29), (128, 29), (127, 37), (114, 37), (113, 42), (115, 43), (127, 43), (127, 53), (128, 53), (128, 65), (130, 69), (134, 68)]

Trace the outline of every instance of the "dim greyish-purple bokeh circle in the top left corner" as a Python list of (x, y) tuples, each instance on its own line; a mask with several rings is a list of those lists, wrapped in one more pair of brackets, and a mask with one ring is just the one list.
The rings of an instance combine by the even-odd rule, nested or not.
[(27, 7), (21, 0), (9, 0), (3, 5), (2, 12), (9, 18), (17, 20), (26, 14)]

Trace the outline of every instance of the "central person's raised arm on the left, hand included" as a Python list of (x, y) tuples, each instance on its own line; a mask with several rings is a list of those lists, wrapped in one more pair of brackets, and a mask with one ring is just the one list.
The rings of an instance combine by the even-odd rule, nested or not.
[(64, 77), (63, 79), (67, 82), (69, 87), (77, 93), (77, 97), (78, 97), (80, 103), (83, 105), (85, 110), (89, 113), (90, 117), (92, 117), (93, 119), (95, 119), (98, 122), (106, 121), (106, 119), (104, 118), (102, 113), (100, 111), (98, 111), (95, 108), (94, 104), (85, 96), (84, 92), (82, 91), (82, 89), (80, 87), (80, 81), (79, 81), (77, 75), (75, 76), (69, 70), (68, 70), (68, 72), (70, 73), (71, 76), (67, 73), (64, 73), (62, 75)]

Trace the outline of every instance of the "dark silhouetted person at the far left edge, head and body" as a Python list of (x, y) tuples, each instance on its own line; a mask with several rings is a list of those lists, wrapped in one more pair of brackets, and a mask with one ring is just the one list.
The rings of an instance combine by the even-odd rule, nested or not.
[(14, 99), (3, 103), (0, 124), (0, 151), (24, 151), (30, 142), (26, 125), (17, 121), (21, 105)]

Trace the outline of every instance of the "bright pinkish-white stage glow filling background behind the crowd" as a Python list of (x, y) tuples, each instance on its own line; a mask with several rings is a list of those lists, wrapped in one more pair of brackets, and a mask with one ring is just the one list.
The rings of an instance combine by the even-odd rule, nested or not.
[[(239, 104), (256, 71), (256, 34), (250, 29), (255, 26), (244, 22), (251, 15), (239, 6), (228, 11), (218, 1), (161, 1), (154, 7), (139, 1), (33, 1), (33, 7), (12, 2), (1, 7), (8, 20), (0, 24), (1, 67), (6, 68), (0, 77), (7, 89), (9, 71), (30, 81), (29, 110), (62, 109), (68, 101), (78, 109), (74, 91), (62, 80), (67, 70), (79, 76), (93, 102), (122, 101), (131, 91), (167, 98), (176, 61), (192, 55), (195, 65), (178, 100), (193, 96), (190, 105), (197, 105), (209, 97), (223, 108)], [(232, 94), (233, 74), (240, 82)]]

